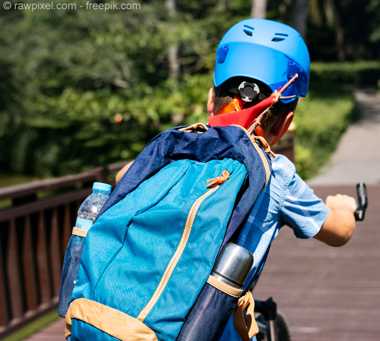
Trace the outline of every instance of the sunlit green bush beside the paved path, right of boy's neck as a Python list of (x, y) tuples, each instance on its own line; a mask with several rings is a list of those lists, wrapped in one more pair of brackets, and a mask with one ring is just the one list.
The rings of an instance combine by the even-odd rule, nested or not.
[(296, 168), (307, 179), (317, 174), (336, 149), (341, 134), (352, 121), (355, 100), (352, 90), (330, 83), (310, 83), (294, 117)]

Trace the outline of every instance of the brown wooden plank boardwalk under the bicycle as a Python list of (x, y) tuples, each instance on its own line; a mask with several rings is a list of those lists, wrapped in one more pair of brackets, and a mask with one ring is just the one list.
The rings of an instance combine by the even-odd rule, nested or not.
[[(297, 239), (286, 226), (273, 242), (254, 297), (274, 298), (294, 341), (380, 340), (380, 186), (367, 190), (366, 219), (343, 247)], [(315, 192), (355, 195), (353, 186)], [(63, 341), (63, 329), (60, 319), (27, 340)]]

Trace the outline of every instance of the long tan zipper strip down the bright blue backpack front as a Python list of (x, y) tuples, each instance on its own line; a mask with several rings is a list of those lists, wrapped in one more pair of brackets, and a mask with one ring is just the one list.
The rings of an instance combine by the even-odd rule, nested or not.
[(210, 188), (206, 193), (202, 194), (200, 197), (198, 197), (194, 203), (192, 204), (190, 211), (187, 215), (186, 223), (185, 223), (185, 229), (184, 232), (182, 233), (182, 237), (180, 240), (180, 243), (177, 246), (177, 249), (171, 258), (168, 266), (166, 267), (166, 270), (164, 272), (164, 275), (161, 278), (161, 281), (155, 289), (152, 298), (148, 302), (148, 304), (144, 307), (143, 310), (141, 310), (139, 316), (137, 316), (137, 320), (143, 322), (145, 317), (148, 315), (154, 304), (158, 301), (160, 295), (165, 289), (166, 284), (168, 283), (170, 276), (177, 265), (178, 260), (180, 259), (182, 253), (184, 252), (186, 243), (189, 239), (191, 228), (195, 219), (195, 215), (198, 211), (198, 208), (202, 201), (206, 199), (210, 194), (214, 193), (222, 184), (215, 184), (212, 188)]

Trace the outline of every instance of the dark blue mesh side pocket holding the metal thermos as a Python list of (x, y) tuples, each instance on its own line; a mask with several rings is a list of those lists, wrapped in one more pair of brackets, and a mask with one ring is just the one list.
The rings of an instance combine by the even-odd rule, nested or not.
[(206, 283), (176, 341), (218, 341), (237, 301), (238, 298)]

